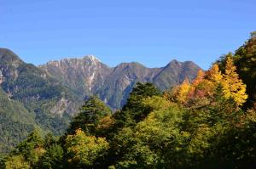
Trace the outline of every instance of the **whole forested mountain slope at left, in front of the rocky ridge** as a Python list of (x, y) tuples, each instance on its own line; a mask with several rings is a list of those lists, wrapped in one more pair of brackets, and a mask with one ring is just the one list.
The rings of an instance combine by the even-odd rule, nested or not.
[(72, 90), (6, 48), (0, 48), (0, 70), (3, 150), (26, 138), (34, 127), (55, 134), (66, 130), (70, 114), (82, 102)]

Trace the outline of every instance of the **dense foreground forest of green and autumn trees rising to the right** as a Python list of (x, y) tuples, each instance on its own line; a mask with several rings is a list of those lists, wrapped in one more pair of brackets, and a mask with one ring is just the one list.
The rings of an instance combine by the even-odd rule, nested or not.
[(1, 168), (256, 168), (256, 33), (195, 80), (137, 82), (112, 112), (90, 97), (61, 137), (34, 130)]

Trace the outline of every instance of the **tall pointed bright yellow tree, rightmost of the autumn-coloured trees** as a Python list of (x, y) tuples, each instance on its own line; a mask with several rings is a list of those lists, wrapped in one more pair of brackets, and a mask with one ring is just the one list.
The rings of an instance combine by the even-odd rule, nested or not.
[(247, 100), (246, 85), (241, 81), (236, 73), (236, 66), (233, 60), (228, 57), (225, 66), (224, 81), (224, 97), (226, 99), (234, 99), (237, 105), (241, 105)]

